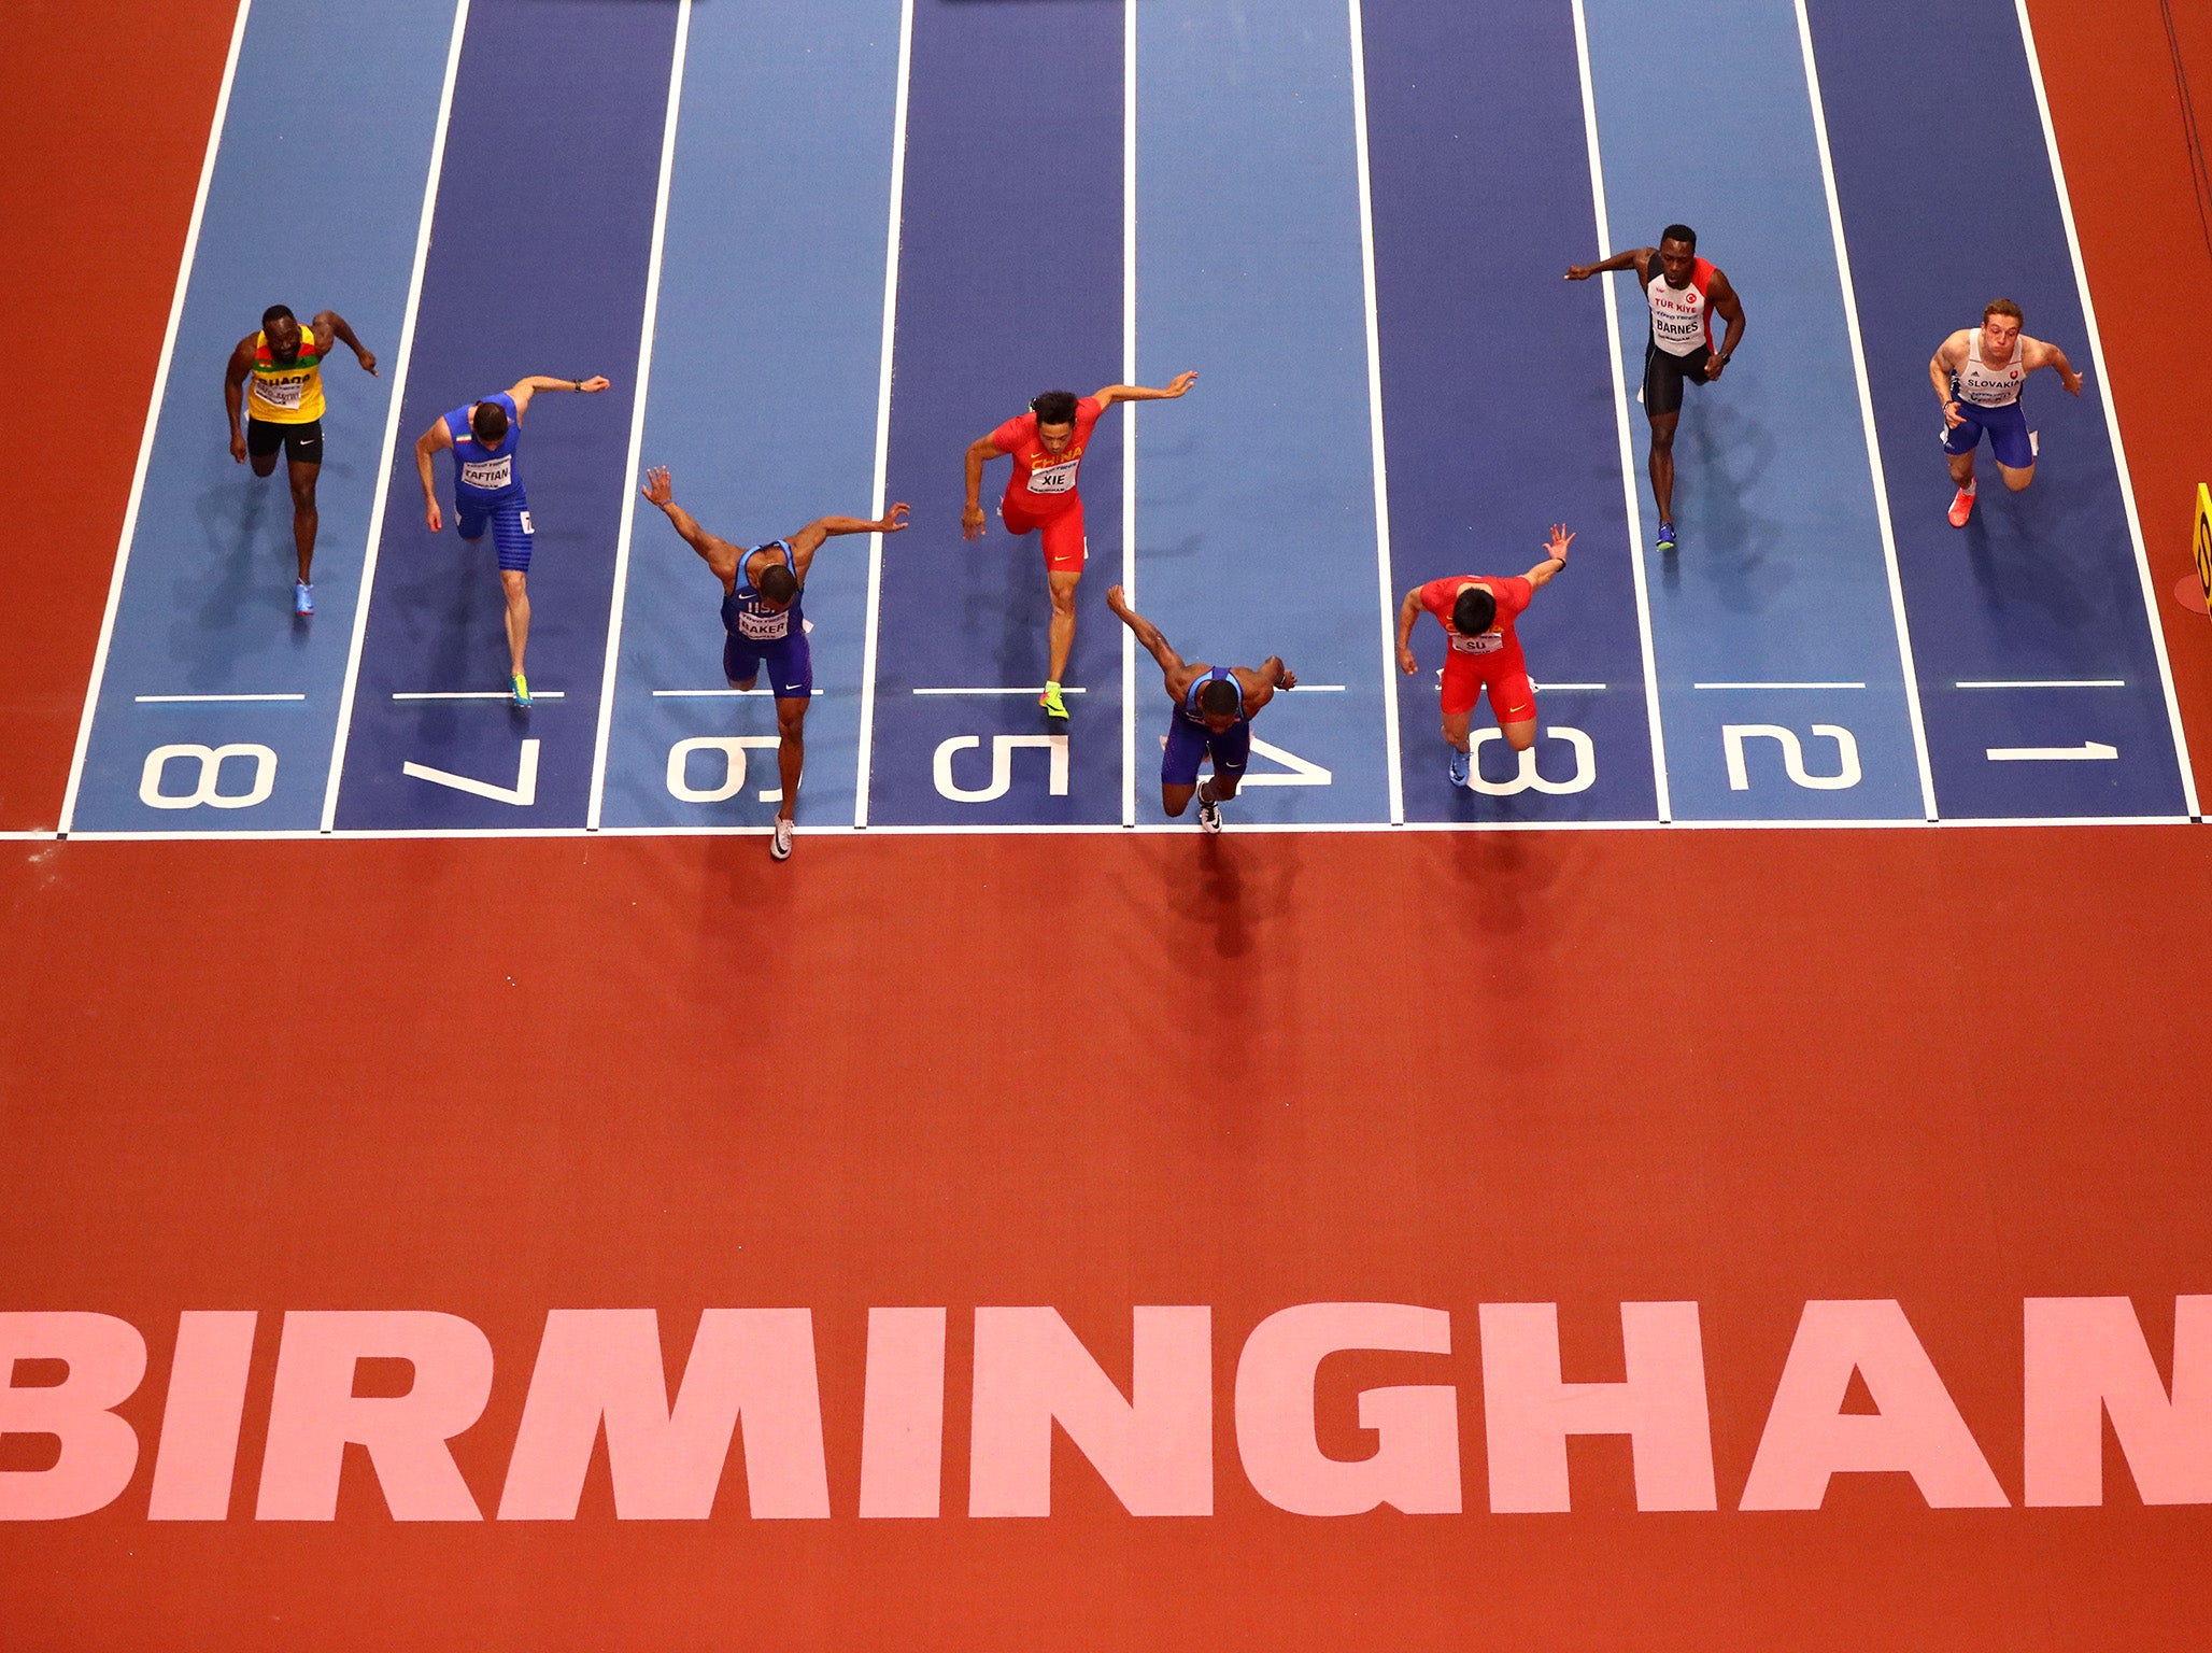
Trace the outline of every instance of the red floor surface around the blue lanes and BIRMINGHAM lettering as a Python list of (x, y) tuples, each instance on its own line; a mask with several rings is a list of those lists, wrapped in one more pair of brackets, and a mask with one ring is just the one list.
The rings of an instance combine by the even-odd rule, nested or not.
[[(9, 378), (95, 328), (119, 414), (106, 447), (7, 414), (7, 825), (60, 803), (206, 142), (228, 11), (184, 11), (9, 22), (4, 206), (51, 226), (9, 277)], [(2170, 345), (2212, 263), (2163, 33), (2148, 0), (2035, 22), (2163, 591), (2212, 454)], [(2212, 628), (2181, 620), (2205, 763)], [(139, 1325), (148, 1441), (177, 1310), (263, 1328), (232, 1520), (148, 1525), (142, 1458), (111, 1509), (7, 1529), (4, 1644), (2190, 1646), (2212, 1511), (2143, 1509), (2110, 1445), (2101, 1509), (1929, 1511), (1900, 1476), (1734, 1503), (1805, 1299), (1900, 1299), (2015, 1503), (2024, 1295), (2128, 1292), (2170, 1361), (2174, 1295), (2212, 1290), (2208, 843), (9, 845), (0, 1308)], [(1577, 1441), (1573, 1514), (1482, 1514), (1475, 1303), (1557, 1301), (1566, 1374), (1601, 1381), (1617, 1306), (1683, 1297), (1721, 1511), (1635, 1514), (1626, 1447)], [(1453, 1312), (1453, 1356), (1332, 1368), (1323, 1410), (1455, 1381), (1471, 1514), (1245, 1487), (1234, 1350), (1318, 1299)], [(604, 1474), (577, 1522), (394, 1525), (358, 1460), (336, 1525), (250, 1518), (279, 1310), (482, 1325), (456, 1456), (491, 1507), (546, 1308), (655, 1306), (677, 1363), (723, 1303), (816, 1312), (830, 1522), (748, 1520), (732, 1469), (703, 1525), (617, 1525)], [(1064, 1452), (1048, 1520), (854, 1520), (865, 1310), (894, 1303), (953, 1310), (949, 1511), (967, 1308), (1053, 1303), (1126, 1374), (1133, 1303), (1210, 1303), (1219, 1514), (1135, 1520)]]

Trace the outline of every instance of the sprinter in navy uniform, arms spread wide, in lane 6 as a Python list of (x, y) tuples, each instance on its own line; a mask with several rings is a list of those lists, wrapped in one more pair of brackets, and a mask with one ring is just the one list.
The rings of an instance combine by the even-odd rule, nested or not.
[(641, 491), (721, 580), (721, 673), (730, 679), (730, 688), (752, 688), (761, 668), (768, 668), (768, 693), (776, 697), (776, 772), (783, 777), (783, 801), (776, 805), (768, 852), (776, 861), (787, 861), (792, 825), (799, 819), (799, 770), (807, 759), (807, 706), (814, 704), (814, 651), (807, 646), (807, 622), (799, 609), (807, 569), (832, 533), (898, 533), (907, 527), (907, 507), (894, 505), (880, 522), (821, 516), (787, 540), (770, 540), (748, 551), (708, 533), (677, 505), (666, 465), (646, 471)]

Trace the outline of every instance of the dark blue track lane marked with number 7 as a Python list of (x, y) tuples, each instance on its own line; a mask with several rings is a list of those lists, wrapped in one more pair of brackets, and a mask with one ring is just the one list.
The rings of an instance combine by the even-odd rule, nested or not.
[[(675, 0), (469, 9), (343, 759), (343, 828), (584, 825), (675, 24)], [(491, 536), (467, 547), (456, 533), (449, 454), (436, 471), (445, 533), (429, 533), (411, 443), (524, 374), (615, 381), (597, 396), (540, 394), (522, 427), (538, 706), (396, 699), (507, 684)], [(407, 763), (447, 779), (407, 774)]]

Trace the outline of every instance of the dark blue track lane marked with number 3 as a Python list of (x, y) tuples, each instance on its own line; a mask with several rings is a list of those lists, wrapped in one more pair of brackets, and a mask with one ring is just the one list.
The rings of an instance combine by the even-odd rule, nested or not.
[(1480, 788), (1451, 786), (1444, 637), (1427, 617), (1413, 628), (1422, 673), (1398, 688), (1407, 819), (1650, 821), (1637, 544), (1606, 332), (1559, 281), (1595, 223), (1573, 13), (1369, 7), (1367, 124), (1391, 609), (1427, 580), (1524, 573), (1548, 524), (1575, 529), (1566, 573), (1520, 622), (1537, 682), (1531, 766), (1495, 737), (1484, 701)]

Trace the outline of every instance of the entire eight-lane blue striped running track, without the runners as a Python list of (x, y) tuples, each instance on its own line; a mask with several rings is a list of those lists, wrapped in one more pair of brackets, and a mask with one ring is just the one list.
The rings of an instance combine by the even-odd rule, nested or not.
[[(763, 830), (774, 706), (723, 684), (633, 443), (743, 544), (914, 509), (814, 564), (807, 830), (1161, 825), (1117, 582), (1186, 657), (1307, 684), (1232, 828), (2188, 817), (2048, 142), (2004, 0), (254, 0), (66, 825)], [(1674, 219), (1750, 334), (1688, 392), (1659, 555), (1648, 308), (1562, 272)], [(1927, 361), (1997, 294), (2088, 383), (2031, 381), (2035, 485), (1984, 462), (1955, 531)], [(230, 462), (217, 401), (272, 301), (385, 370), (325, 370), (312, 622), (283, 478)], [(1086, 454), (1046, 724), (1040, 547), (1004, 460), (960, 538), (962, 451), (1042, 389), (1186, 367)], [(524, 427), (518, 713), (493, 551), (427, 531), (411, 445), (540, 372), (613, 389)], [(1398, 675), (1398, 602), (1522, 573), (1555, 520), (1542, 739), (1480, 708), (1453, 788), (1442, 637)]]

